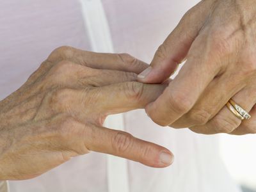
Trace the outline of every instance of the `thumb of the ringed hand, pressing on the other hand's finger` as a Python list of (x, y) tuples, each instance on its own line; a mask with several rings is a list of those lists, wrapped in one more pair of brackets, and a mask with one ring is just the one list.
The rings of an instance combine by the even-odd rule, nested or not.
[(150, 67), (138, 75), (138, 81), (162, 83), (175, 72), (204, 24), (207, 15), (204, 10), (208, 10), (204, 2), (198, 3), (182, 17), (177, 27), (157, 49)]

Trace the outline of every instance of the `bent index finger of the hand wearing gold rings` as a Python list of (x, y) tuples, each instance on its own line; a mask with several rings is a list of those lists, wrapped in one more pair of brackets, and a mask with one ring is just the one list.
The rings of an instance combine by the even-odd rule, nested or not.
[(195, 40), (188, 60), (164, 93), (146, 106), (146, 112), (159, 125), (170, 125), (191, 109), (220, 67), (207, 52), (204, 38)]

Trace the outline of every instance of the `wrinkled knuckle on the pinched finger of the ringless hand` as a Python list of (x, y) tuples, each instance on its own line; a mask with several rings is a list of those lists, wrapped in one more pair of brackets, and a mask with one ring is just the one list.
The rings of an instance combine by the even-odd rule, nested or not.
[(136, 81), (126, 82), (124, 84), (124, 93), (128, 99), (141, 100), (143, 94), (143, 83)]

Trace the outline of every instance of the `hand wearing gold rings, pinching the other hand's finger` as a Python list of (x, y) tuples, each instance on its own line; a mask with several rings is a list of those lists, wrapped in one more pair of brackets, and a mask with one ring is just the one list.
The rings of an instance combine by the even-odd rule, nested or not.
[[(256, 3), (205, 0), (191, 8), (138, 77), (161, 83), (186, 60), (164, 93), (146, 107), (159, 125), (214, 134), (256, 132)], [(234, 100), (252, 118), (241, 122)]]

